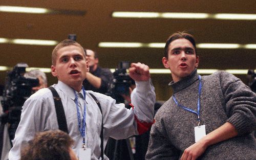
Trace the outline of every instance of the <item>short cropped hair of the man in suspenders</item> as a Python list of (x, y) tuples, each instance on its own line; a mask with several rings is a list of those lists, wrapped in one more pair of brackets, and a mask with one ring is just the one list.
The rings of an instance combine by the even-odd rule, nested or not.
[(53, 49), (53, 51), (52, 51), (52, 65), (54, 65), (54, 66), (56, 65), (58, 50), (62, 49), (64, 47), (67, 47), (69, 45), (75, 45), (75, 46), (79, 47), (81, 49), (81, 51), (83, 52), (84, 56), (86, 56), (86, 53), (84, 53), (84, 50), (83, 50), (82, 46), (79, 43), (77, 43), (76, 41), (71, 40), (71, 39), (65, 39), (65, 40), (61, 41), (60, 43), (58, 43), (56, 45), (56, 47)]

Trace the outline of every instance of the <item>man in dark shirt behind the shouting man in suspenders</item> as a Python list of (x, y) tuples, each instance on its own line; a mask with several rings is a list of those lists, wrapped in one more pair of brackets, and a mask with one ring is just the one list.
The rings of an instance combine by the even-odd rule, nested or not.
[(87, 78), (83, 81), (84, 88), (101, 94), (107, 93), (109, 83), (113, 79), (110, 69), (99, 66), (97, 52), (88, 49), (84, 49), (84, 52), (86, 52), (86, 59), (90, 67)]

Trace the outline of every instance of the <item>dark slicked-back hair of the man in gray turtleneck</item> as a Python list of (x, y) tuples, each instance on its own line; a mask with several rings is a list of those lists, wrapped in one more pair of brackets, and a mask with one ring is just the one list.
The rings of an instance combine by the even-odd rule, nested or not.
[(194, 48), (195, 48), (195, 52), (196, 52), (196, 56), (197, 56), (197, 47), (196, 47), (196, 41), (193, 37), (193, 35), (183, 31), (183, 32), (176, 32), (172, 35), (170, 35), (170, 37), (166, 40), (166, 43), (165, 43), (165, 47), (164, 47), (164, 57), (168, 58), (168, 47), (169, 47), (169, 44), (176, 40), (176, 39), (180, 39), (180, 38), (185, 38), (187, 40), (189, 40)]

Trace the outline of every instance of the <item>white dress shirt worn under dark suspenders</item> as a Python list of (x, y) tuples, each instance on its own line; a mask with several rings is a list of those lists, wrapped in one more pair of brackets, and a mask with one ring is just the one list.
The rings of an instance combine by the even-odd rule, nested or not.
[[(65, 111), (69, 135), (75, 141), (73, 150), (78, 155), (82, 148), (82, 136), (78, 129), (77, 108), (74, 90), (65, 83), (58, 81), (52, 85), (59, 97)], [(141, 122), (153, 122), (155, 92), (151, 80), (136, 82), (136, 89), (131, 95), (134, 109), (126, 109), (124, 104), (116, 104), (109, 96), (86, 91), (86, 147), (91, 148), (91, 159), (100, 158), (100, 131), (101, 113), (92, 93), (100, 102), (104, 126), (104, 148), (109, 137), (114, 139), (126, 139), (131, 135), (138, 134), (137, 123), (134, 116)], [(82, 90), (78, 94), (79, 112), (81, 123), (84, 109)], [(82, 125), (82, 124), (81, 124)], [(20, 149), (23, 144), (33, 139), (39, 131), (57, 130), (58, 123), (52, 93), (50, 89), (43, 88), (33, 94), (25, 103), (22, 115), (13, 141), (13, 148), (9, 153), (9, 160), (20, 159)], [(104, 159), (109, 159), (104, 155)]]

